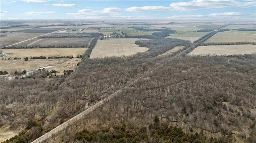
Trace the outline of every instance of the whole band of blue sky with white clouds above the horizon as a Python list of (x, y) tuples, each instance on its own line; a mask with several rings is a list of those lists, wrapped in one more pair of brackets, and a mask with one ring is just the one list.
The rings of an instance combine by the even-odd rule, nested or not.
[(1, 0), (10, 19), (255, 19), (256, 0)]

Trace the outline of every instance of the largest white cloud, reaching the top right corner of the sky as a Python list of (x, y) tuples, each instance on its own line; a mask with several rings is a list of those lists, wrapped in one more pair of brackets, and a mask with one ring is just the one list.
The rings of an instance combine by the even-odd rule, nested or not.
[(192, 0), (190, 2), (173, 2), (172, 9), (180, 11), (192, 11), (198, 9), (227, 8), (227, 7), (252, 7), (256, 2), (242, 2), (235, 0)]

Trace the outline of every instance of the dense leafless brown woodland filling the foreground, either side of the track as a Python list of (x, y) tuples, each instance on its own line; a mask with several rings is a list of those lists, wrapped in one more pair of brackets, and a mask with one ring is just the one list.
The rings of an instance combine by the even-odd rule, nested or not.
[[(26, 128), (7, 142), (30, 142), (120, 90), (47, 142), (106, 142), (120, 133), (122, 142), (170, 142), (179, 136), (170, 132), (178, 132), (180, 142), (253, 143), (256, 55), (186, 56), (215, 32), (194, 44), (151, 35), (136, 41), (150, 49), (132, 56), (89, 59), (85, 53), (69, 75), (45, 78), (44, 70), (33, 78), (2, 78), (0, 125)], [(157, 57), (180, 45), (184, 53)]]

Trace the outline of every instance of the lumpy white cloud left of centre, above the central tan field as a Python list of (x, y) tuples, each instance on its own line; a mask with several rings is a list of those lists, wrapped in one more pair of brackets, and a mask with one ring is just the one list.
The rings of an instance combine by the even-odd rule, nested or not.
[(67, 13), (68, 16), (75, 16), (75, 18), (81, 18), (81, 17), (94, 17), (94, 16), (102, 16), (102, 17), (108, 17), (108, 16), (117, 16), (120, 15), (120, 8), (104, 8), (100, 11), (93, 11), (89, 9), (82, 9), (78, 10), (78, 12), (75, 13)]

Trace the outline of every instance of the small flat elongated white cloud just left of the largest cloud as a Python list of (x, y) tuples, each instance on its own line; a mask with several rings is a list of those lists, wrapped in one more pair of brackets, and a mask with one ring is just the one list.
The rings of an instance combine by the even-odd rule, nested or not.
[(130, 11), (130, 12), (150, 12), (150, 11), (154, 11), (154, 12), (158, 12), (158, 11), (166, 11), (166, 10), (171, 10), (171, 7), (166, 7), (166, 6), (142, 6), (142, 7), (130, 7), (130, 8), (126, 8), (124, 9), (126, 11)]

